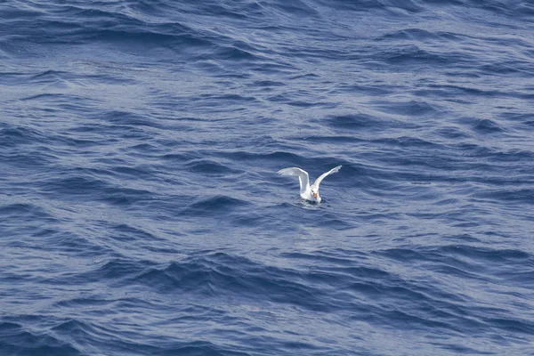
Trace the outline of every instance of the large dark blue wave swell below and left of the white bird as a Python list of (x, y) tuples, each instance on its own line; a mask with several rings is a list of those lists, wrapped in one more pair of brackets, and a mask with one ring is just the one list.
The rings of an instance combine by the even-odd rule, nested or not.
[[(134, 281), (156, 288), (160, 293), (190, 292), (205, 297), (231, 294), (251, 300), (262, 297), (272, 302), (295, 303), (320, 311), (334, 307), (325, 303), (324, 292), (298, 282), (299, 276), (295, 271), (263, 266), (219, 253), (150, 267), (137, 274)], [(314, 279), (316, 282), (320, 280)]]

